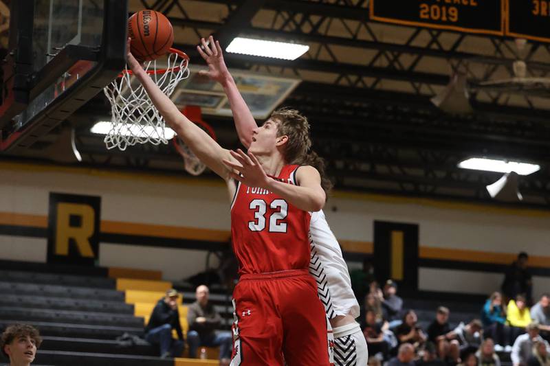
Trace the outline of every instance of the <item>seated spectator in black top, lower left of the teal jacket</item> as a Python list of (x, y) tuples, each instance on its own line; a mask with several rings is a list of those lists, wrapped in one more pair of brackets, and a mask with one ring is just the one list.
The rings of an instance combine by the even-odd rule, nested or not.
[(460, 344), (452, 339), (448, 320), (449, 309), (439, 306), (434, 321), (428, 327), (428, 341), (436, 345), (439, 358), (448, 363), (456, 363), (460, 354)]

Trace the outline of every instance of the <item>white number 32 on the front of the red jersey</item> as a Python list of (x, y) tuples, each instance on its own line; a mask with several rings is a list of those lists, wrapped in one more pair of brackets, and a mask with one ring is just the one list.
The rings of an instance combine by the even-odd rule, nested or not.
[(248, 222), (250, 231), (263, 231), (267, 225), (267, 231), (270, 233), (286, 233), (287, 223), (284, 222), (288, 214), (288, 204), (285, 200), (275, 199), (270, 204), (274, 211), (269, 217), (265, 217), (267, 212), (267, 203), (261, 199), (250, 201), (250, 209), (254, 211), (254, 221)]

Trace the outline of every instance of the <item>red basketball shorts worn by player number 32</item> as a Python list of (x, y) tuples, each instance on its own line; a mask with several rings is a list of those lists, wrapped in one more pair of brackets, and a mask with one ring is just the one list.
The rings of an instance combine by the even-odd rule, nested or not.
[(307, 270), (243, 275), (233, 299), (231, 366), (329, 365), (325, 308)]

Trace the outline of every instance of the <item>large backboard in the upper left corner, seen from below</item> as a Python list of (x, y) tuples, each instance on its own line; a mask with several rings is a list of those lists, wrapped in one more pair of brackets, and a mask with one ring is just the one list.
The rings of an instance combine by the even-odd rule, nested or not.
[(124, 68), (127, 0), (11, 2), (0, 151), (30, 146)]

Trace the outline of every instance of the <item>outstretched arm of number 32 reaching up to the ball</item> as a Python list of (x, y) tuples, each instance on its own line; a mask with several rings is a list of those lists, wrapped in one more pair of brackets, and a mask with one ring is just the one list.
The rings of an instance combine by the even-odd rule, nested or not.
[(166, 124), (170, 126), (175, 133), (185, 141), (191, 151), (208, 166), (212, 171), (223, 179), (230, 179), (230, 170), (223, 164), (223, 159), (232, 159), (229, 150), (225, 150), (212, 139), (199, 126), (191, 122), (186, 116), (181, 114), (177, 106), (164, 94), (157, 84), (151, 80), (151, 77), (144, 71), (139, 62), (130, 52), (130, 38), (126, 45), (126, 61), (131, 68), (133, 75), (140, 80), (146, 90), (149, 98), (162, 115)]

